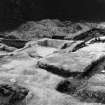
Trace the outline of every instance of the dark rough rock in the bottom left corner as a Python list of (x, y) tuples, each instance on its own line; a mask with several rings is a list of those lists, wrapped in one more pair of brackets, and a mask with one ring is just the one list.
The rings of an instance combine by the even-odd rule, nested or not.
[[(1, 105), (17, 105), (25, 100), (29, 90), (9, 84), (0, 84), (0, 104)], [(25, 105), (25, 101), (23, 103)], [(21, 104), (22, 105), (22, 104)]]

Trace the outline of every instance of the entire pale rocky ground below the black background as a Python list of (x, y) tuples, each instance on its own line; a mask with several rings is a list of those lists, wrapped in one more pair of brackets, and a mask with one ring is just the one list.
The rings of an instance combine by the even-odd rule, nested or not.
[(31, 21), (1, 33), (0, 105), (105, 105), (105, 23)]

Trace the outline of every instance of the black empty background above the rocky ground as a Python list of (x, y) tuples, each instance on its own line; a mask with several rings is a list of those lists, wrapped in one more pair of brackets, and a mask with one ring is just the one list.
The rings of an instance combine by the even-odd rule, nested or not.
[(105, 3), (99, 0), (0, 0), (0, 31), (30, 20), (104, 21)]

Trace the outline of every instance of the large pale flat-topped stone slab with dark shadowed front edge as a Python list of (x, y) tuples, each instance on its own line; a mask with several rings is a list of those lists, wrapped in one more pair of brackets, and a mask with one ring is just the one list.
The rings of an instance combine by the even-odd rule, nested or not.
[[(101, 45), (99, 44), (99, 47)], [(57, 53), (38, 61), (40, 68), (64, 77), (71, 76), (71, 73), (82, 73), (93, 61), (104, 56), (104, 46), (96, 51), (89, 46), (73, 53)], [(94, 47), (93, 47), (94, 48)], [(102, 49), (103, 48), (103, 49)], [(85, 50), (84, 50), (85, 49)], [(98, 49), (98, 51), (97, 51)], [(72, 74), (75, 75), (75, 74)]]

